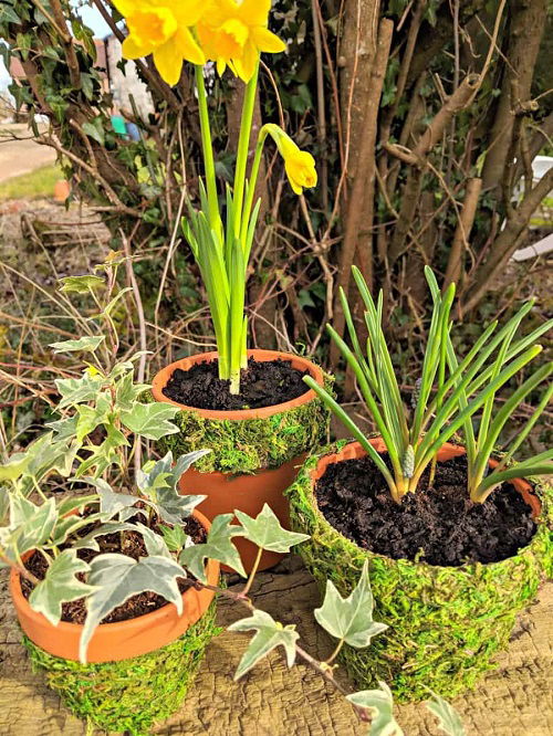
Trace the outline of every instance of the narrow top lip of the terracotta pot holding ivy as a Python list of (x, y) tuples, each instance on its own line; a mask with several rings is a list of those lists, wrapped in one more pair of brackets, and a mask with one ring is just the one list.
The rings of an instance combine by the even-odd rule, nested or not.
[[(192, 516), (201, 524), (201, 526), (209, 532), (209, 528), (211, 527), (211, 522), (204, 516), (204, 514), (197, 509), (192, 511)], [(208, 559), (207, 565), (207, 577), (208, 581), (210, 585), (216, 585), (217, 579), (219, 577), (219, 562), (213, 559)], [(213, 582), (215, 580), (215, 582)], [(185, 603), (186, 607), (186, 597), (188, 592), (190, 591), (190, 588), (187, 588), (182, 593), (182, 602)], [(44, 623), (46, 622), (49, 625), (52, 627), (52, 629), (60, 635), (63, 637), (63, 634), (69, 634), (69, 633), (74, 633), (77, 630), (82, 630), (83, 625), (82, 623), (72, 623), (70, 621), (60, 621), (58, 625), (51, 624), (48, 619), (43, 616), (43, 613), (39, 613), (38, 611), (34, 611), (27, 598), (23, 596), (23, 591), (21, 590), (21, 574), (18, 572), (18, 570), (12, 569), (10, 572), (10, 592), (11, 597), (13, 599), (13, 606), (17, 609), (25, 609), (27, 610), (27, 616), (33, 620), (36, 623)], [(146, 621), (150, 625), (155, 625), (157, 621), (163, 620), (167, 616), (167, 608), (169, 606), (174, 606), (174, 603), (167, 602), (166, 606), (161, 606), (161, 608), (157, 608), (155, 611), (150, 611), (149, 613), (143, 613), (142, 616), (136, 616), (133, 619), (125, 619), (125, 621), (113, 621), (112, 623), (101, 623), (95, 633), (100, 631), (114, 631), (116, 628), (118, 628), (119, 631), (122, 632), (128, 632), (132, 631), (135, 628), (143, 628), (144, 622)], [(186, 608), (185, 608), (186, 610)], [(204, 616), (204, 613), (202, 613)], [(201, 618), (201, 617), (200, 617)]]

